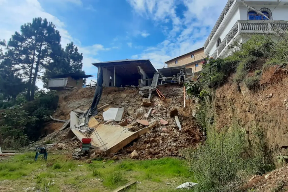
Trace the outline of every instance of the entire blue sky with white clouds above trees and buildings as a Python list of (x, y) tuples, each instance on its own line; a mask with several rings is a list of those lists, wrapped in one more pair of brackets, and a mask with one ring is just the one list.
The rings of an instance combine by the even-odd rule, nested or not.
[[(226, 0), (0, 0), (0, 39), (35, 17), (53, 22), (63, 47), (73, 41), (83, 69), (93, 62), (150, 59), (164, 62), (204, 45)], [(93, 77), (92, 77), (93, 79)], [(37, 82), (42, 86), (41, 82)]]

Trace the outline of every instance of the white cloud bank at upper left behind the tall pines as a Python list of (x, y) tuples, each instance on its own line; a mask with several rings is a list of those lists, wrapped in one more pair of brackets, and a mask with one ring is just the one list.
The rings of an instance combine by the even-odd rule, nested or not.
[[(80, 0), (65, 1), (82, 6), (82, 2)], [(0, 0), (0, 5), (0, 39), (5, 39), (6, 41), (9, 40), (15, 31), (20, 32), (21, 25), (27, 22), (32, 22), (33, 18), (35, 17), (46, 18), (49, 22), (54, 23), (56, 29), (60, 32), (62, 47), (65, 47), (66, 44), (70, 43), (71, 41), (75, 42), (75, 45), (78, 46), (79, 52), (83, 53), (83, 70), (88, 74), (97, 73), (97, 68), (91, 63), (99, 62), (99, 60), (95, 57), (98, 55), (98, 52), (108, 51), (111, 49), (104, 47), (101, 44), (94, 44), (88, 47), (81, 46), (81, 42), (71, 37), (65, 28), (65, 23), (59, 20), (57, 17), (45, 12), (37, 0)], [(37, 86), (42, 88), (43, 83), (38, 81)]]

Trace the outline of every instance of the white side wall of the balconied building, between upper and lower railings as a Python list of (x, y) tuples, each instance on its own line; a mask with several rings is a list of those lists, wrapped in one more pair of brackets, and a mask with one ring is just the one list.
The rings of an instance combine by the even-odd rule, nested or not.
[(205, 50), (206, 53), (211, 56), (217, 49), (217, 39), (220, 37), (221, 42), (224, 40), (224, 38), (226, 37), (226, 35), (229, 33), (229, 31), (232, 29), (232, 27), (235, 25), (235, 23), (240, 20), (240, 10), (236, 9), (236, 12), (234, 12), (232, 18), (228, 21), (228, 23), (224, 26), (222, 32), (219, 35), (216, 35), (213, 37), (213, 40), (211, 40), (211, 42), (213, 42), (213, 46), (211, 48), (211, 50)]

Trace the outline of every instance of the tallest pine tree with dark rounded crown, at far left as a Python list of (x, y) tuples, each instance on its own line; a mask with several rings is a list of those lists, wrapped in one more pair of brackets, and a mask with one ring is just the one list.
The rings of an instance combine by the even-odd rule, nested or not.
[(41, 79), (39, 73), (43, 73), (61, 50), (61, 36), (52, 22), (42, 18), (34, 18), (32, 23), (22, 25), (20, 31), (15, 32), (8, 42), (7, 57), (28, 79), (26, 97), (29, 101), (34, 99), (36, 80)]

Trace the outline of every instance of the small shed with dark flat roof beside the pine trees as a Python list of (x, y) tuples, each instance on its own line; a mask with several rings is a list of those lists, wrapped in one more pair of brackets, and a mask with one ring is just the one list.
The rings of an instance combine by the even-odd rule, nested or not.
[(85, 75), (79, 73), (67, 73), (51, 77), (48, 81), (48, 88), (52, 90), (82, 88), (83, 79), (94, 77), (94, 75)]

